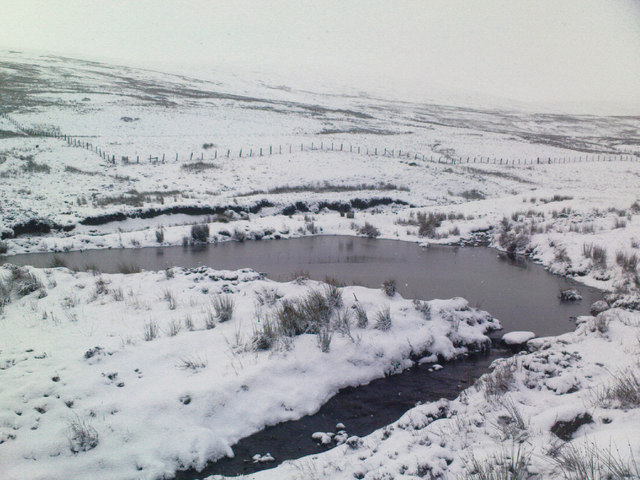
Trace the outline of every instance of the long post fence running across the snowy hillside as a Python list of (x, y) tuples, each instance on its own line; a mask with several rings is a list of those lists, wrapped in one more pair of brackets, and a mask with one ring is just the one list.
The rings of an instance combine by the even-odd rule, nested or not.
[(55, 129), (42, 129), (42, 128), (33, 128), (26, 127), (20, 125), (18, 122), (10, 118), (6, 113), (0, 113), (0, 117), (8, 120), (14, 126), (16, 126), (19, 130), (26, 133), (27, 135), (34, 137), (51, 137), (61, 139), (69, 146), (84, 148), (88, 151), (91, 151), (97, 154), (100, 158), (105, 161), (108, 161), (112, 164), (116, 164), (117, 161), (122, 162), (123, 164), (131, 164), (131, 163), (149, 163), (153, 165), (168, 163), (171, 159), (175, 162), (180, 161), (215, 161), (219, 158), (251, 158), (251, 157), (264, 157), (271, 155), (283, 155), (283, 154), (293, 154), (295, 152), (313, 152), (313, 151), (322, 151), (322, 152), (342, 152), (342, 153), (357, 153), (360, 155), (368, 155), (368, 156), (376, 156), (376, 157), (389, 157), (389, 158), (402, 158), (413, 161), (421, 161), (421, 162), (430, 162), (430, 163), (441, 163), (441, 164), (449, 164), (449, 165), (460, 165), (460, 164), (493, 164), (493, 165), (550, 165), (550, 164), (562, 164), (562, 163), (591, 163), (591, 162), (613, 162), (613, 161), (626, 161), (626, 162), (638, 162), (640, 161), (640, 154), (612, 154), (612, 153), (594, 153), (594, 154), (585, 154), (578, 155), (573, 157), (536, 157), (536, 158), (500, 158), (500, 157), (489, 157), (489, 156), (477, 156), (477, 157), (452, 157), (449, 155), (438, 155), (435, 156), (433, 154), (423, 154), (420, 152), (413, 152), (401, 149), (390, 149), (385, 147), (368, 147), (361, 145), (345, 145), (344, 143), (335, 143), (335, 142), (311, 142), (310, 144), (305, 145), (304, 143), (300, 143), (299, 145), (293, 144), (285, 144), (285, 145), (269, 145), (267, 147), (249, 147), (249, 148), (240, 148), (235, 149), (226, 149), (220, 151), (220, 155), (218, 154), (218, 150), (213, 150), (213, 154), (207, 156), (205, 158), (204, 152), (200, 152), (200, 155), (196, 155), (194, 157), (193, 152), (189, 155), (185, 155), (180, 157), (178, 153), (175, 154), (175, 158), (173, 154), (167, 155), (165, 153), (140, 156), (136, 155), (135, 160), (134, 157), (122, 156), (120, 155), (118, 159), (116, 159), (116, 155), (105, 151), (103, 148), (95, 146), (91, 142), (83, 141), (80, 137), (72, 137), (68, 135), (63, 135), (59, 131)]

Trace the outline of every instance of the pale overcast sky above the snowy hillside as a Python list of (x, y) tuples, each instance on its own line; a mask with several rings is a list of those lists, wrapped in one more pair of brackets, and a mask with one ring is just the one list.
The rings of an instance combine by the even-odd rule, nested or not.
[(0, 0), (0, 47), (640, 112), (640, 0)]

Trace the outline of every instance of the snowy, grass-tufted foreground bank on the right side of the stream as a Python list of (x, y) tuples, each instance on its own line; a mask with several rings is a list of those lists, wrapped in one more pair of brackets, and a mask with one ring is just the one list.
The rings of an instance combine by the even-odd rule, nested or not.
[(454, 401), (244, 478), (640, 478), (640, 314), (614, 309), (580, 322), (494, 362)]

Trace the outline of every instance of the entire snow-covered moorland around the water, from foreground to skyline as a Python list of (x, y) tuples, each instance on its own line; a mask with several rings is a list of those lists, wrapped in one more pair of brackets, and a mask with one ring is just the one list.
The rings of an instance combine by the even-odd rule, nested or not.
[[(587, 478), (580, 459), (640, 476), (640, 118), (408, 104), (10, 52), (0, 95), (0, 253), (363, 235), (489, 244), (609, 292), (575, 332), (530, 340), (457, 400), (256, 479), (481, 480), (509, 465), (517, 478)], [(25, 134), (34, 128), (116, 161)], [(624, 161), (428, 161), (599, 155)], [(499, 326), (463, 299), (122, 270), (1, 267), (1, 478), (170, 478), (340, 388), (485, 348)]]

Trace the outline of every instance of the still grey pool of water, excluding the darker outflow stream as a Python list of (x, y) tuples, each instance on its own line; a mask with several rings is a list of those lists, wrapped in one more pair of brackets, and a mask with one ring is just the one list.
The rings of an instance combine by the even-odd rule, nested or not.
[[(117, 272), (121, 264), (136, 264), (146, 270), (200, 265), (218, 269), (250, 267), (274, 280), (306, 272), (317, 280), (333, 277), (346, 284), (374, 288), (394, 278), (405, 297), (465, 297), (472, 306), (500, 319), (505, 331), (532, 330), (539, 336), (571, 330), (570, 318), (587, 314), (591, 303), (602, 295), (597, 289), (551, 275), (530, 261), (509, 259), (490, 248), (422, 248), (409, 242), (359, 237), (317, 236), (57, 255), (70, 268), (93, 265), (103, 272)], [(34, 253), (5, 257), (4, 261), (45, 267), (52, 258), (52, 254)], [(561, 302), (558, 293), (566, 288), (579, 290), (583, 300)]]

